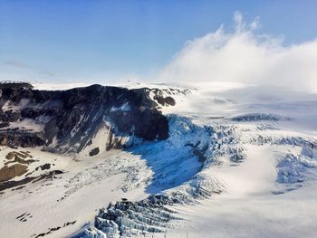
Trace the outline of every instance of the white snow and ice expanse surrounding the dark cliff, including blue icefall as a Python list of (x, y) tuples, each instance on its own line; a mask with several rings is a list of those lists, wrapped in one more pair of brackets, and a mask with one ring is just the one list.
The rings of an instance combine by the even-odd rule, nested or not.
[[(62, 173), (4, 191), (6, 237), (317, 235), (316, 95), (215, 82), (130, 88), (148, 89), (169, 137), (89, 157), (104, 128), (72, 157), (29, 149)], [(175, 105), (159, 103), (168, 97)]]

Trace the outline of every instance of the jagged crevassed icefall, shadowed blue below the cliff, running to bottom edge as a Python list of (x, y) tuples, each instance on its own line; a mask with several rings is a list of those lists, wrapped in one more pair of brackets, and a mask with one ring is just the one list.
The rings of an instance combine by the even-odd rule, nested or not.
[[(164, 233), (169, 222), (179, 220), (173, 205), (194, 204), (197, 198), (220, 194), (226, 188), (206, 173), (216, 157), (228, 155), (231, 163), (245, 159), (239, 137), (232, 126), (195, 125), (190, 119), (168, 116), (170, 135), (167, 140), (143, 143), (129, 148), (141, 155), (153, 170), (148, 198), (110, 204), (100, 210), (93, 225), (86, 225), (73, 237), (130, 237), (136, 234)], [(234, 157), (235, 155), (235, 157)], [(236, 158), (237, 157), (237, 158)]]

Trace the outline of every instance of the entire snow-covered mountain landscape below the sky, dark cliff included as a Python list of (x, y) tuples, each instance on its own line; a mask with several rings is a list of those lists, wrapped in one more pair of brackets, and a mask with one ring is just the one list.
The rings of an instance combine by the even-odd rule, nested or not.
[(317, 232), (314, 94), (207, 82), (1, 90), (5, 237)]

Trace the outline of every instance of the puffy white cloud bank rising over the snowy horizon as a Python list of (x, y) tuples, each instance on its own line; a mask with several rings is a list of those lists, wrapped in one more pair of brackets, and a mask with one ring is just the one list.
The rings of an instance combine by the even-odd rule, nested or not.
[(159, 81), (234, 81), (317, 90), (317, 39), (284, 46), (281, 39), (255, 33), (259, 19), (246, 24), (234, 15), (235, 31), (222, 25), (186, 43), (159, 73)]

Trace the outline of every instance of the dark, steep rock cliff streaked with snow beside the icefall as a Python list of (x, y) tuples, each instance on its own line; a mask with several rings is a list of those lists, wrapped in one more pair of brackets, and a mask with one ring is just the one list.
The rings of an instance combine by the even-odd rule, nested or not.
[(105, 123), (113, 135), (108, 149), (130, 145), (131, 139), (121, 137), (168, 138), (168, 120), (147, 89), (91, 85), (53, 91), (9, 83), (0, 90), (1, 145), (80, 152)]

